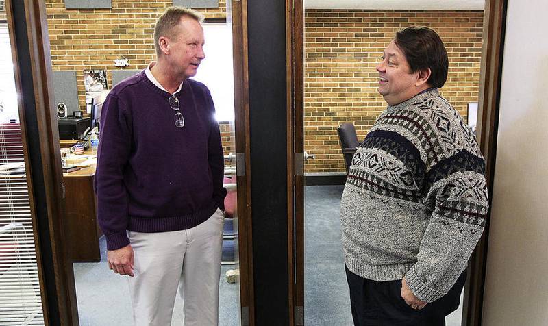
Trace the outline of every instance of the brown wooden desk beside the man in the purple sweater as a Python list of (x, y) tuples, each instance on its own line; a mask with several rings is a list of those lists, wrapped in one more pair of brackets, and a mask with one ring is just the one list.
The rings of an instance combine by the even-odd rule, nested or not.
[(93, 191), (95, 165), (63, 173), (65, 186), (66, 231), (73, 262), (99, 262), (97, 199)]

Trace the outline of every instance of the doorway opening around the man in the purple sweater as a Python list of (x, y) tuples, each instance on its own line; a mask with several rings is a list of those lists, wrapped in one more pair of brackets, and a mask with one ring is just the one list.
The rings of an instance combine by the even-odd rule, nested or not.
[[(206, 30), (205, 51), (208, 60), (204, 60), (200, 69), (207, 68), (208, 61), (216, 63), (215, 61), (220, 58), (228, 60), (228, 63), (221, 64), (223, 71), (232, 68), (232, 56), (226, 54), (233, 51), (232, 42), (230, 42), (232, 20), (238, 17), (231, 16), (231, 4), (231, 1), (219, 1), (216, 8), (197, 8), (206, 16), (204, 29)], [(58, 103), (73, 101), (74, 105), (66, 105), (69, 108), (67, 110), (69, 116), (72, 118), (90, 116), (92, 120), (95, 120), (93, 110), (89, 110), (89, 106), (95, 108), (97, 103), (101, 103), (101, 99), (99, 96), (95, 97), (86, 88), (86, 75), (89, 75), (89, 71), (101, 72), (105, 79), (101, 84), (104, 88), (112, 88), (116, 82), (145, 68), (154, 58), (152, 34), (155, 19), (167, 6), (166, 3), (151, 5), (150, 10), (144, 13), (139, 6), (125, 8), (123, 3), (114, 1), (112, 8), (68, 8), (66, 3), (46, 1), (45, 13), (47, 14), (51, 45), (53, 77), (60, 82), (53, 84), (53, 88), (62, 88), (59, 91), (55, 90), (55, 106)], [(119, 16), (120, 12), (124, 12), (124, 14)], [(106, 29), (109, 30), (109, 33), (105, 34)], [(221, 40), (225, 41), (223, 43), (225, 47), (208, 48), (208, 40), (211, 45), (219, 45), (219, 40), (216, 42), (212, 39), (219, 38), (219, 35), (222, 35)], [(239, 41), (241, 39), (238, 39)], [(208, 51), (210, 51), (210, 55), (208, 55)], [(217, 59), (214, 58), (215, 54)], [(124, 64), (120, 64), (120, 62), (124, 62)], [(228, 191), (225, 206), (227, 206), (229, 216), (225, 218), (223, 237), (219, 321), (220, 325), (236, 325), (240, 323), (240, 301), (243, 301), (240, 300), (242, 284), (240, 283), (240, 273), (238, 273), (241, 269), (238, 250), (240, 247), (238, 240), (241, 239), (238, 218), (241, 215), (245, 216), (245, 209), (238, 207), (236, 197), (240, 197), (239, 192), (245, 192), (245, 184), (240, 187), (239, 182), (236, 181), (238, 179), (236, 158), (237, 152), (240, 153), (241, 145), (238, 145), (236, 141), (238, 123), (235, 119), (235, 108), (234, 105), (232, 107), (230, 105), (230, 103), (234, 103), (234, 90), (227, 86), (232, 86), (234, 80), (241, 79), (236, 79), (232, 75), (232, 69), (228, 69), (228, 75), (221, 74), (219, 66), (210, 65), (208, 69), (210, 74), (215, 75), (215, 80), (212, 80), (211, 75), (204, 73), (202, 75), (209, 77), (209, 80), (203, 79), (204, 76), (196, 76), (195, 79), (209, 86), (216, 104), (216, 118), (221, 130), (225, 155), (224, 186)], [(70, 87), (60, 85), (69, 85)], [(240, 84), (235, 87), (238, 90), (243, 88)], [(229, 96), (230, 93), (232, 93), (232, 97)], [(225, 106), (229, 108), (225, 108)], [(236, 110), (240, 110), (240, 108)], [(62, 118), (64, 117), (61, 116), (60, 119)], [(242, 136), (244, 135), (242, 134)], [(66, 142), (61, 140), (62, 147), (69, 148), (73, 145), (71, 140), (66, 140)], [(245, 155), (245, 151), (241, 151), (241, 153)], [(79, 170), (66, 172), (63, 175), (67, 186), (66, 216), (71, 218), (71, 221), (85, 221), (84, 223), (87, 225), (84, 227), (82, 223), (72, 223), (67, 227), (67, 236), (79, 239), (85, 236), (89, 240), (82, 250), (73, 248), (71, 251), (79, 320), (82, 325), (105, 325), (105, 321), (125, 324), (131, 320), (131, 303), (127, 299), (127, 282), (108, 270), (105, 263), (105, 240), (95, 221), (95, 203), (91, 186), (95, 170), (90, 163), (94, 159), (93, 154), (91, 152), (89, 157), (84, 157), (88, 155), (86, 153), (72, 158), (71, 162), (73, 163), (71, 164), (77, 165)], [(245, 156), (242, 158), (246, 159)], [(74, 189), (82, 190), (77, 198), (74, 196), (75, 192), (72, 191)], [(245, 218), (243, 221), (246, 221)], [(82, 229), (88, 230), (85, 235), (81, 234)], [(86, 251), (86, 249), (92, 250)], [(227, 274), (227, 272), (229, 273)], [(105, 298), (112, 298), (112, 300)], [(116, 314), (112, 314), (112, 310), (109, 309), (111, 306), (119, 308)], [(173, 315), (175, 325), (181, 321), (182, 310), (180, 308), (181, 301), (177, 299)]]

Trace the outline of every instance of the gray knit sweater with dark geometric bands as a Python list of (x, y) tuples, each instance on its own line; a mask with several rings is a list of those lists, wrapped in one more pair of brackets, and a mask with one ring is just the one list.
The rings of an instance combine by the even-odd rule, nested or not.
[(388, 106), (354, 154), (343, 192), (347, 268), (375, 281), (405, 276), (426, 302), (442, 297), (484, 229), (484, 166), (437, 88)]

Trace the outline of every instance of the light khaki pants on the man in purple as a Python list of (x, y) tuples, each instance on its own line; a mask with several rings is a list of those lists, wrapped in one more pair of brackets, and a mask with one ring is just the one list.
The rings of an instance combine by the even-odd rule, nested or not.
[(183, 231), (128, 231), (135, 276), (128, 277), (135, 325), (170, 326), (177, 288), (184, 325), (219, 323), (219, 277), (224, 216)]

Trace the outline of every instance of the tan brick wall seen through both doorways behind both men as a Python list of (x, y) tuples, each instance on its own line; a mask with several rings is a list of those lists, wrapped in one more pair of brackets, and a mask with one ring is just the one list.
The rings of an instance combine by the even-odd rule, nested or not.
[[(1, 1), (0, 1), (1, 4)], [(64, 0), (46, 0), (53, 70), (112, 71), (114, 60), (128, 58), (128, 69), (154, 59), (155, 19), (171, 1), (113, 0), (112, 10), (66, 10)], [(225, 18), (226, 2), (201, 10), (208, 18)], [(341, 172), (343, 156), (336, 127), (351, 121), (364, 138), (386, 104), (377, 94), (375, 64), (397, 29), (428, 25), (442, 36), (449, 51), (449, 79), (442, 94), (466, 114), (477, 101), (483, 12), (306, 11), (305, 149), (316, 159), (306, 172)], [(112, 85), (112, 74), (108, 84)], [(84, 85), (78, 83), (84, 110)], [(220, 124), (225, 153), (233, 151), (229, 125)]]

